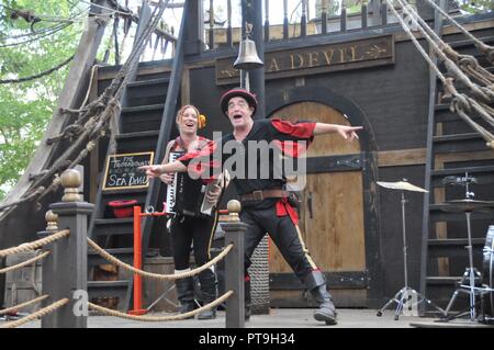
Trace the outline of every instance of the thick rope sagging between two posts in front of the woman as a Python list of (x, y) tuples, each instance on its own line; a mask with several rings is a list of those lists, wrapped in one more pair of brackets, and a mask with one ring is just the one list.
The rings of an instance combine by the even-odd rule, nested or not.
[(112, 255), (108, 253), (103, 248), (98, 246), (93, 240), (91, 240), (91, 238), (88, 238), (88, 245), (91, 246), (102, 258), (106, 259), (108, 261), (110, 261), (127, 271), (137, 273), (138, 275), (142, 275), (144, 278), (154, 279), (154, 280), (162, 280), (162, 281), (187, 279), (187, 278), (193, 276), (195, 274), (199, 274), (200, 272), (209, 269), (210, 267), (212, 267), (213, 264), (218, 262), (221, 259), (223, 259), (233, 248), (233, 244), (226, 246), (225, 249), (223, 249), (223, 251), (221, 253), (218, 253), (214, 259), (212, 259), (207, 263), (205, 263), (197, 269), (193, 269), (193, 270), (190, 270), (187, 272), (182, 272), (182, 273), (160, 274), (160, 273), (151, 273), (151, 272), (136, 269), (133, 266), (130, 266), (128, 263), (125, 263), (122, 260), (116, 259)]

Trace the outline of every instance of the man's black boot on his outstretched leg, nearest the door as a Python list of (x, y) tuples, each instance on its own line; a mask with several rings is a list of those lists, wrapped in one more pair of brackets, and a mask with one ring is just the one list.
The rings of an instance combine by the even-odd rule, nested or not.
[(333, 304), (332, 295), (326, 290), (326, 281), (323, 273), (318, 270), (312, 271), (306, 276), (305, 284), (319, 307), (314, 312), (314, 318), (325, 321), (326, 325), (336, 325), (337, 313)]

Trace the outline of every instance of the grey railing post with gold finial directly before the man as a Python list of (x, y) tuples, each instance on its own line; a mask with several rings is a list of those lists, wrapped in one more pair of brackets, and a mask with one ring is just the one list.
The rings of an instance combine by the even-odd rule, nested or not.
[(225, 247), (233, 244), (232, 251), (225, 258), (225, 291), (234, 294), (226, 301), (226, 328), (245, 327), (245, 290), (244, 290), (244, 234), (247, 225), (242, 223), (238, 213), (240, 203), (229, 201), (229, 215), (221, 223), (225, 232)]

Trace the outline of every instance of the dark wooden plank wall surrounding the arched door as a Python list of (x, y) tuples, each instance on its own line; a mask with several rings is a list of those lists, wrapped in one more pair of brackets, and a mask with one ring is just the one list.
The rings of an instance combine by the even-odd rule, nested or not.
[[(476, 33), (480, 36), (492, 35), (492, 30)], [(451, 35), (449, 39), (459, 39), (461, 35)], [(423, 43), (424, 45), (424, 43)], [(269, 49), (267, 48), (267, 52)], [(224, 91), (235, 87), (212, 86), (215, 81), (213, 64), (190, 70), (190, 100), (202, 113), (207, 115), (209, 123), (204, 136), (212, 137), (213, 131), (229, 132), (229, 123), (218, 108)], [(355, 69), (339, 72), (305, 76), (303, 79), (284, 78), (266, 81), (266, 94), (279, 93), (290, 89), (324, 90), (330, 94), (344, 95), (363, 111), (372, 128), (375, 149), (382, 153), (391, 150), (419, 149), (426, 147), (427, 110), (428, 110), (428, 67), (417, 49), (408, 41), (395, 43), (395, 64), (389, 66)], [(276, 103), (276, 105), (273, 105)], [(267, 110), (277, 110), (279, 101), (267, 100)], [(351, 120), (351, 115), (349, 115)], [(363, 132), (366, 133), (366, 131)], [(411, 183), (424, 187), (425, 167), (420, 161), (416, 165), (386, 166), (379, 169), (381, 181), (400, 181), (406, 178)], [(393, 296), (404, 285), (402, 253), (402, 213), (400, 191), (378, 188), (379, 223), (381, 227), (381, 271), (384, 287), (380, 298), (370, 306)], [(418, 192), (406, 192), (406, 230), (408, 245), (408, 281), (418, 289), (420, 269), (420, 239), (423, 195)]]

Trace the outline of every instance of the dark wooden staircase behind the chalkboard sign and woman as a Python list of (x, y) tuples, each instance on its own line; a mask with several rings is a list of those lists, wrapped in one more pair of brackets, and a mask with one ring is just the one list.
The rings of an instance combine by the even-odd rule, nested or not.
[[(187, 10), (187, 5), (184, 8)], [(184, 12), (187, 13), (187, 12)], [(180, 33), (183, 33), (186, 18), (183, 18)], [(162, 66), (156, 68), (156, 63), (149, 69), (148, 64), (141, 64), (134, 72), (135, 78), (130, 80), (119, 120), (119, 134), (115, 137), (115, 154), (132, 154), (141, 151), (154, 151), (155, 163), (160, 162), (165, 146), (171, 137), (175, 115), (178, 110), (179, 89), (181, 82), (183, 57), (183, 36), (177, 42), (175, 58), (164, 60)], [(99, 70), (98, 93), (111, 83), (112, 71), (119, 67), (103, 67)], [(150, 71), (150, 72), (149, 72)], [(160, 181), (153, 181), (146, 189), (102, 190), (104, 182), (104, 163), (110, 149), (100, 151), (99, 185), (96, 199), (96, 210), (89, 224), (88, 236), (96, 240), (109, 253), (132, 264), (133, 262), (133, 218), (116, 218), (108, 203), (117, 200), (136, 200), (142, 208), (153, 206), (157, 211), (162, 210), (158, 199), (164, 199), (164, 187)], [(106, 157), (104, 157), (106, 155)], [(143, 219), (143, 257), (148, 253), (150, 233), (164, 229), (164, 223), (157, 219)], [(144, 259), (143, 259), (144, 260)], [(132, 292), (133, 275), (126, 271), (119, 271), (115, 281), (96, 281), (91, 271), (100, 264), (109, 262), (102, 259), (96, 251), (88, 252), (88, 292), (89, 298), (117, 298), (117, 308), (128, 311)]]

